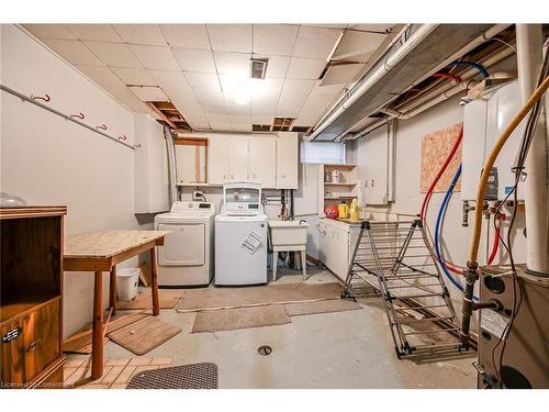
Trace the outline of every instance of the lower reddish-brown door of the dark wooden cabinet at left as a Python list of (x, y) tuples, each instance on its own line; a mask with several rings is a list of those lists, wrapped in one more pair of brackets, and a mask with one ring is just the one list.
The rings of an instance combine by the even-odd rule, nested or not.
[[(55, 298), (2, 327), (2, 382), (29, 382), (59, 357), (59, 298)], [(9, 333), (15, 336), (4, 338)]]

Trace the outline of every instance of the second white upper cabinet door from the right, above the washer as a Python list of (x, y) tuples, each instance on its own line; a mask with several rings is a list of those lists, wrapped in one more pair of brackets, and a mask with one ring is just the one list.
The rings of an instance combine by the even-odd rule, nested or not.
[(248, 181), (273, 188), (277, 185), (277, 141), (274, 137), (248, 142)]

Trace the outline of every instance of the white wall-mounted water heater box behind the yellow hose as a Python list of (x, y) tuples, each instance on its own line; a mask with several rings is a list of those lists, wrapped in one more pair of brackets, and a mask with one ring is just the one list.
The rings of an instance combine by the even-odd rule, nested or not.
[[(495, 142), (523, 107), (520, 86), (512, 81), (464, 107), (461, 200), (474, 200), (482, 167)], [(515, 159), (527, 118), (509, 136), (497, 157), (486, 200), (503, 200), (515, 183)], [(524, 200), (524, 185), (518, 186), (518, 200)], [(490, 199), (489, 199), (490, 198)]]

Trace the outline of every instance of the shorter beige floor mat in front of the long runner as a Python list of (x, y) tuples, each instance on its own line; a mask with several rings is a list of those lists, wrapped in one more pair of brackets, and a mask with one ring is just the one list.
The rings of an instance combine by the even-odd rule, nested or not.
[(281, 304), (257, 308), (222, 309), (197, 313), (191, 333), (283, 325), (290, 316)]

